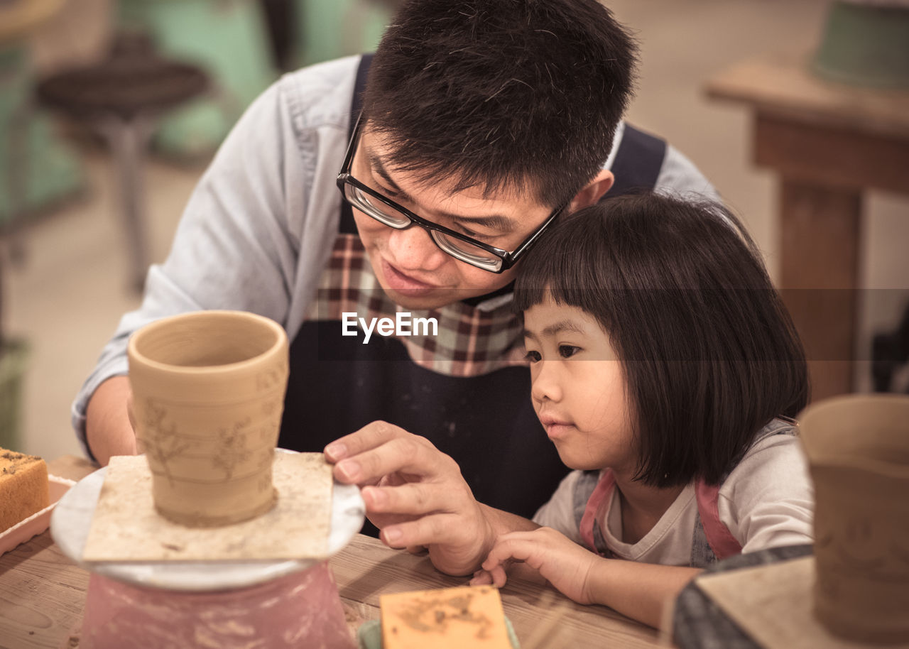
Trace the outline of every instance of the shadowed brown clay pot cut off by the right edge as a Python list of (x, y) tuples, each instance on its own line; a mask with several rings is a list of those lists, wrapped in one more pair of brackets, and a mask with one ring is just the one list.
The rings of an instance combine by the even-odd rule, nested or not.
[(837, 397), (799, 420), (814, 479), (814, 615), (849, 640), (909, 641), (909, 396)]

